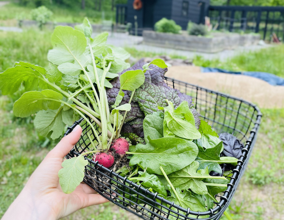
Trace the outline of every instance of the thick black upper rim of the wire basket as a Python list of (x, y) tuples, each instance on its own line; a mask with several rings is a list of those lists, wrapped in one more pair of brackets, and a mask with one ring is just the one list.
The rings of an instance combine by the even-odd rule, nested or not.
[[(219, 214), (221, 215), (221, 214), (223, 214), (225, 209), (228, 207), (228, 205), (229, 205), (228, 201), (230, 201), (231, 197), (234, 195), (234, 191), (236, 190), (236, 187), (239, 184), (241, 176), (244, 173), (244, 169), (247, 165), (250, 153), (251, 153), (253, 145), (256, 141), (255, 137), (256, 137), (256, 134), (258, 133), (262, 113), (261, 113), (260, 109), (258, 108), (258, 106), (256, 104), (253, 104), (253, 103), (246, 101), (244, 99), (240, 99), (238, 97), (231, 96), (230, 94), (225, 94), (225, 93), (222, 93), (222, 92), (219, 92), (219, 91), (207, 89), (207, 88), (204, 88), (204, 87), (201, 87), (201, 86), (198, 86), (198, 85), (190, 84), (190, 83), (187, 83), (187, 82), (184, 82), (184, 81), (176, 80), (176, 79), (173, 79), (173, 78), (168, 78), (168, 77), (165, 77), (165, 76), (164, 76), (164, 79), (171, 81), (173, 83), (173, 86), (174, 86), (175, 82), (178, 82), (180, 84), (196, 87), (196, 90), (201, 90), (201, 91), (205, 91), (205, 92), (208, 92), (208, 93), (211, 93), (211, 94), (216, 94), (216, 95), (220, 95), (220, 96), (223, 96), (223, 97), (226, 97), (226, 98), (230, 98), (230, 99), (240, 101), (241, 103), (244, 103), (244, 104), (247, 104), (247, 105), (253, 107), (254, 111), (257, 112), (256, 122), (254, 123), (253, 129), (250, 130), (250, 136), (249, 136), (248, 140), (245, 142), (246, 144), (244, 145), (244, 149), (242, 149), (242, 155), (240, 156), (240, 159), (238, 160), (236, 168), (234, 170), (232, 170), (233, 175), (230, 179), (230, 182), (227, 184), (228, 188), (227, 188), (227, 190), (224, 191), (224, 194), (222, 196), (220, 196), (220, 202), (216, 204), (216, 207), (213, 208), (213, 209), (209, 209), (206, 212), (191, 211), (189, 208), (185, 209), (185, 208), (183, 208), (183, 207), (181, 207), (177, 204), (174, 204), (174, 202), (170, 202), (169, 200), (164, 199), (163, 197), (157, 195), (158, 193), (150, 192), (148, 189), (145, 189), (141, 184), (137, 185), (133, 181), (128, 180), (127, 176), (125, 176), (125, 177), (120, 176), (118, 173), (116, 173), (116, 172), (114, 172), (114, 171), (112, 171), (112, 170), (110, 170), (106, 167), (103, 167), (101, 164), (98, 164), (98, 162), (94, 162), (93, 160), (87, 158), (86, 156), (85, 156), (85, 158), (88, 159), (89, 163), (92, 164), (94, 167), (98, 167), (98, 168), (108, 172), (109, 175), (116, 176), (116, 178), (122, 180), (123, 184), (127, 183), (130, 186), (135, 187), (135, 190), (137, 190), (137, 192), (142, 191), (144, 194), (150, 195), (151, 198), (153, 198), (154, 201), (155, 201), (155, 199), (159, 199), (161, 202), (164, 202), (164, 203), (170, 205), (170, 208), (173, 207), (173, 208), (178, 209), (179, 211), (186, 213), (186, 215), (184, 215), (182, 213), (178, 213), (178, 212), (175, 212), (174, 210), (171, 210), (171, 212), (178, 214), (179, 216), (184, 216), (186, 218), (189, 218), (189, 217), (187, 217), (189, 214), (195, 215), (197, 217), (198, 216), (205, 216), (205, 215), (209, 215), (210, 217), (216, 216), (216, 215), (219, 215)], [(196, 106), (195, 106), (195, 108), (196, 108)], [(72, 126), (69, 126), (67, 128), (67, 131), (64, 133), (64, 136), (68, 135), (73, 130), (73, 128), (75, 126), (77, 126), (78, 124), (80, 124), (82, 121), (83, 121), (83, 117), (80, 118), (78, 121), (75, 121)], [(74, 157), (75, 155), (79, 156), (80, 153), (76, 152), (75, 149), (72, 149), (69, 152), (69, 154), (66, 155), (66, 158)], [(239, 174), (241, 174), (241, 175), (239, 175)], [(126, 186), (126, 187), (128, 187), (128, 186)], [(161, 205), (161, 204), (159, 204), (159, 205)], [(208, 218), (208, 219), (211, 219), (211, 218)]]

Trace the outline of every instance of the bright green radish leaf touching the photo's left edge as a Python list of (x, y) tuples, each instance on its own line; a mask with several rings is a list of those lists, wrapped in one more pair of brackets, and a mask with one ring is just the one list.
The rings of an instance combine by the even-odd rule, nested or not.
[(22, 82), (26, 91), (51, 88), (43, 80), (46, 73), (44, 68), (23, 62), (16, 63), (16, 65), (0, 73), (0, 90), (3, 95), (18, 91)]

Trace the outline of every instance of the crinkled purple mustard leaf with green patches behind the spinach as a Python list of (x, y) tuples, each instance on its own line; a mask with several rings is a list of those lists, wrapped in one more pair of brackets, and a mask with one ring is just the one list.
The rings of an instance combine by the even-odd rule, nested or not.
[[(138, 62), (134, 66), (118, 73), (120, 76), (126, 71), (143, 70), (145, 62)], [(190, 110), (195, 118), (195, 126), (199, 129), (200, 119), (199, 114), (193, 107), (192, 98), (186, 94), (182, 94), (177, 89), (169, 87), (164, 81), (164, 75), (168, 69), (159, 68), (153, 64), (149, 65), (149, 70), (145, 72), (145, 82), (140, 88), (136, 89), (131, 102), (131, 111), (127, 112), (124, 126), (121, 130), (121, 135), (128, 137), (133, 143), (144, 143), (143, 120), (146, 115), (153, 112), (162, 111), (159, 107), (168, 105), (166, 99), (171, 101), (176, 109), (182, 101), (187, 101)], [(111, 81), (113, 88), (107, 89), (107, 97), (109, 106), (115, 103), (116, 96), (119, 92), (120, 81), (115, 78)], [(121, 104), (129, 102), (131, 91), (123, 90), (125, 96)], [(112, 110), (112, 108), (111, 108)], [(123, 114), (123, 112), (122, 112)]]

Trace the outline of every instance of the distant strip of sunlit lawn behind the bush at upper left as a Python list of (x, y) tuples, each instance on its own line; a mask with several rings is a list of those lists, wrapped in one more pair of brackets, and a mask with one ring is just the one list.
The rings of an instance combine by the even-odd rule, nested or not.
[[(18, 17), (24, 20), (32, 20), (32, 9), (34, 9), (34, 7), (24, 7), (16, 3), (9, 3), (0, 7), (0, 24), (7, 24), (8, 20), (17, 20)], [(112, 21), (115, 19), (115, 10), (111, 11), (107, 7), (106, 9), (103, 7), (102, 11), (96, 11), (89, 7), (82, 10), (80, 7), (67, 8), (55, 5), (50, 6), (49, 9), (53, 12), (52, 21), (54, 22), (81, 23), (84, 17), (88, 17), (91, 23), (100, 23), (102, 19)], [(11, 11), (13, 11), (13, 13), (11, 13)]]

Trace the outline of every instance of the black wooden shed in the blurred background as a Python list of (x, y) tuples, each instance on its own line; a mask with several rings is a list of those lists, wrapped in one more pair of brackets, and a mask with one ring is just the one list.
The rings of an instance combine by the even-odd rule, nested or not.
[[(173, 19), (182, 29), (187, 28), (188, 21), (204, 23), (210, 0), (140, 0), (142, 8), (134, 9), (134, 0), (128, 0), (126, 5), (117, 5), (116, 22), (123, 17), (124, 22), (135, 23), (137, 16), (139, 29), (154, 28), (154, 24), (162, 19)], [(123, 12), (123, 15), (121, 14)]]

